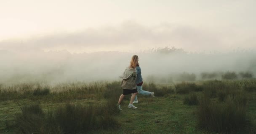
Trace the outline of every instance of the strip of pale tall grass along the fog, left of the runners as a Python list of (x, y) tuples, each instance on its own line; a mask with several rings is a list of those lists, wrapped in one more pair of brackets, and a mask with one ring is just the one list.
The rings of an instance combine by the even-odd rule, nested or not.
[(21, 83), (1, 85), (0, 100), (28, 98), (31, 100), (47, 99), (51, 101), (68, 101), (83, 98), (109, 98), (121, 93), (120, 82), (77, 82), (61, 83), (53, 86), (38, 83)]

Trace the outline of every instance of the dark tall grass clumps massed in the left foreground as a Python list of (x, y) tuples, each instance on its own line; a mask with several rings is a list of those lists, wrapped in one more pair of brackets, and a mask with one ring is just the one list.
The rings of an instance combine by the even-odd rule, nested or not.
[[(115, 100), (116, 101), (116, 100)], [(18, 133), (23, 134), (81, 134), (97, 129), (113, 129), (119, 126), (114, 115), (119, 112), (115, 103), (100, 106), (66, 104), (55, 111), (44, 113), (36, 104), (21, 107), (16, 115)]]

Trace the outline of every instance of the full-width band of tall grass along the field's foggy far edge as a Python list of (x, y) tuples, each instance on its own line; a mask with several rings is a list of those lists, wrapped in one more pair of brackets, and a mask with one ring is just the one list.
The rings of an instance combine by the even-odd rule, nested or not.
[[(235, 81), (204, 81), (203, 85), (195, 83), (181, 82), (175, 85), (176, 93), (185, 94), (193, 91), (201, 91), (215, 98), (221, 90), (246, 90), (256, 91), (256, 80), (235, 80)], [(155, 92), (156, 96), (164, 96), (175, 91), (172, 85), (156, 85), (154, 83), (144, 83), (143, 89)], [(73, 82), (60, 83), (53, 86), (39, 83), (21, 83), (16, 85), (0, 86), (0, 100), (15, 100), (28, 98), (31, 100), (47, 99), (51, 101), (68, 101), (72, 99), (84, 98), (109, 98), (122, 93), (119, 81), (114, 82)]]

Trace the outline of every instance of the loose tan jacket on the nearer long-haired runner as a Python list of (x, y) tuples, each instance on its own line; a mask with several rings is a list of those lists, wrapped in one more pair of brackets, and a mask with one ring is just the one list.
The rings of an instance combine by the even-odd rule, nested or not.
[(122, 78), (123, 89), (136, 89), (137, 72), (135, 68), (126, 68)]

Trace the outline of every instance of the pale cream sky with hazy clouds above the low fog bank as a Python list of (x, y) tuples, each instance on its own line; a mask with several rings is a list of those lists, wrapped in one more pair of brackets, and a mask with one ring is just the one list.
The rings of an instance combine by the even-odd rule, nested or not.
[(256, 49), (256, 0), (0, 0), (0, 49)]

